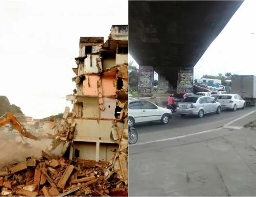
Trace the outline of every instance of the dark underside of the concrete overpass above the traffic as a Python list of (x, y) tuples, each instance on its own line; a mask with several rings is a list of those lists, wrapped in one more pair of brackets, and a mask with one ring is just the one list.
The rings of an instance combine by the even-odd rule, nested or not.
[(176, 88), (179, 69), (194, 67), (242, 2), (129, 1), (129, 54)]

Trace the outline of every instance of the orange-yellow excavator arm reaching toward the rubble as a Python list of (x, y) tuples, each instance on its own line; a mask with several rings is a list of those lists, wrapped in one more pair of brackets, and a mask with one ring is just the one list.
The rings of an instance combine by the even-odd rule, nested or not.
[(5, 119), (0, 120), (0, 127), (3, 125), (10, 123), (12, 124), (15, 129), (20, 133), (22, 137), (27, 137), (29, 139), (40, 140), (38, 137), (34, 136), (32, 133), (26, 131), (26, 129), (22, 126), (22, 124), (16, 119), (16, 117), (12, 113), (5, 113), (2, 117)]

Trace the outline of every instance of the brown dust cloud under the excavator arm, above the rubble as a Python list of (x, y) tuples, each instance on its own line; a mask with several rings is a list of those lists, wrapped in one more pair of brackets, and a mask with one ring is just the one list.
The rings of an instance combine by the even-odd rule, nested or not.
[(23, 141), (20, 135), (0, 134), (0, 166), (25, 161), (27, 157), (41, 157), (41, 151), (47, 151), (52, 142), (51, 139), (35, 141), (25, 138)]

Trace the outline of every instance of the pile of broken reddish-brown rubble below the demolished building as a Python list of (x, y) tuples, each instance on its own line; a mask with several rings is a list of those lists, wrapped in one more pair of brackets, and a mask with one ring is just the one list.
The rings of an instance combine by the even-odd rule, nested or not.
[(41, 158), (1, 168), (1, 196), (128, 196), (128, 186), (106, 164), (42, 151)]

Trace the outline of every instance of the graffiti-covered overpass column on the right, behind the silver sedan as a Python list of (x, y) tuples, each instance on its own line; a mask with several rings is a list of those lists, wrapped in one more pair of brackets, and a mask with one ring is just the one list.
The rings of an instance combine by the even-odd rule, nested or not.
[(193, 68), (180, 69), (178, 76), (177, 92), (193, 92)]

